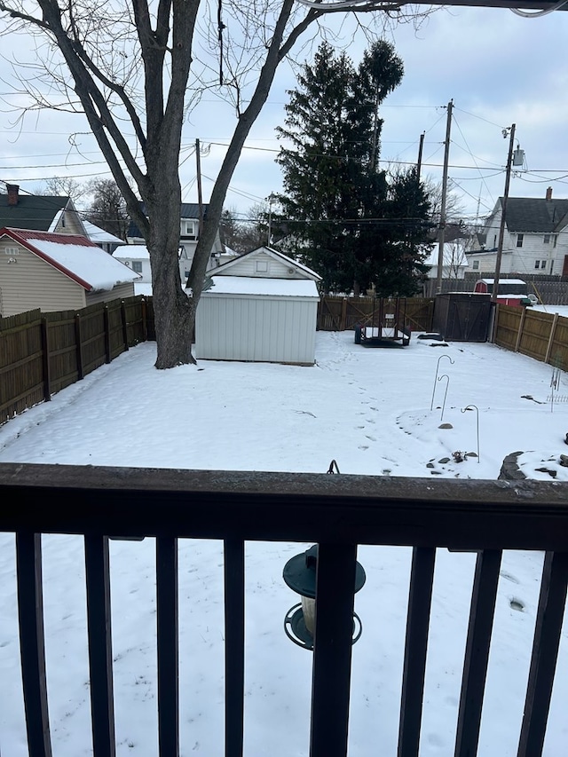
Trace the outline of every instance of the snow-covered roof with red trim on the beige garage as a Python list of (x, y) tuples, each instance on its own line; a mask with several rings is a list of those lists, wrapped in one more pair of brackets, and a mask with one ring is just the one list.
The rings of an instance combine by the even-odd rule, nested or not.
[(2, 236), (28, 249), (88, 292), (110, 290), (140, 278), (94, 242), (77, 234), (4, 228), (0, 229)]

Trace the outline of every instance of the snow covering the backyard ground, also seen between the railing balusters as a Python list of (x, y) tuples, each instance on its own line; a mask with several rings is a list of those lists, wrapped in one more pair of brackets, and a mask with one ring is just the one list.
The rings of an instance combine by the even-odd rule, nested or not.
[[(434, 345), (438, 345), (434, 347)], [(325, 472), (495, 479), (505, 455), (554, 468), (568, 453), (568, 376), (551, 405), (552, 367), (487, 343), (416, 339), (372, 349), (353, 333), (317, 334), (317, 365), (200, 361), (154, 369), (143, 343), (0, 428), (0, 461), (173, 469)], [(451, 360), (454, 362), (452, 363)], [(438, 382), (437, 374), (449, 379)], [(444, 394), (447, 382), (447, 397)], [(564, 399), (563, 399), (564, 397)], [(462, 412), (467, 406), (475, 406)], [(430, 409), (431, 407), (431, 409)], [(454, 461), (453, 452), (479, 457)], [(441, 429), (450, 423), (451, 429)], [(428, 467), (428, 466), (433, 467)], [(565, 483), (560, 485), (565, 486)], [(298, 601), (281, 575), (309, 545), (246, 545), (247, 757), (301, 757), (309, 741), (312, 658), (283, 631)], [(542, 554), (506, 551), (501, 566), (479, 755), (515, 757), (525, 703)], [(82, 540), (43, 536), (47, 675), (54, 757), (91, 753)], [(438, 549), (421, 757), (454, 753), (475, 555)], [(409, 548), (359, 547), (350, 757), (396, 754)], [(154, 540), (111, 542), (119, 757), (157, 753)], [(181, 755), (223, 753), (223, 556), (216, 541), (179, 549)], [(545, 757), (568, 742), (568, 624), (557, 663)], [(0, 742), (27, 755), (15, 607), (14, 548), (0, 534)]]

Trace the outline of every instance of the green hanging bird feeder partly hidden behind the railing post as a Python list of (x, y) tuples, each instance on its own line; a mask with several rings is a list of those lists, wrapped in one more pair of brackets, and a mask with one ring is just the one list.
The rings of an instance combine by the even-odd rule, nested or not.
[[(313, 650), (313, 636), (316, 619), (316, 572), (318, 567), (318, 545), (306, 549), (299, 555), (292, 557), (284, 566), (282, 577), (285, 583), (302, 597), (299, 604), (288, 610), (284, 619), (284, 630), (288, 639), (305, 650)], [(355, 565), (355, 592), (365, 583), (366, 575), (363, 566)], [(362, 633), (361, 620), (353, 612), (353, 641), (359, 640)]]

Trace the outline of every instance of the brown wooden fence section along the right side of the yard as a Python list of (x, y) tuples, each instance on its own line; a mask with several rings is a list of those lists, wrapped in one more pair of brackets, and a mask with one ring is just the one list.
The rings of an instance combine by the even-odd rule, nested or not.
[(568, 370), (568, 318), (498, 305), (495, 344)]

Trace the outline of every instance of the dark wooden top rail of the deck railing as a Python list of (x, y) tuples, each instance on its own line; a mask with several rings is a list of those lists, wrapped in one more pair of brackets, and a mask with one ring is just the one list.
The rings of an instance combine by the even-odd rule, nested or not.
[(568, 551), (568, 485), (0, 463), (0, 530)]

